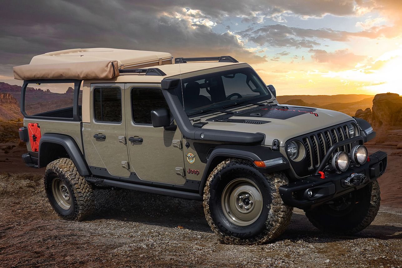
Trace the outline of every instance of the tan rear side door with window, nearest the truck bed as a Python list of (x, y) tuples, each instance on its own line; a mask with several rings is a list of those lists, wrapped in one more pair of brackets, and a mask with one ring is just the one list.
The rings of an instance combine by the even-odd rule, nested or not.
[(91, 85), (90, 139), (101, 163), (113, 176), (129, 177), (124, 84)]

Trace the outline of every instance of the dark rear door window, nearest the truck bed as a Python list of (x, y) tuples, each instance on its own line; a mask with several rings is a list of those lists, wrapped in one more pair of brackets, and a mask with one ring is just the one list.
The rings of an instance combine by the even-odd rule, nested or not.
[(95, 121), (121, 123), (121, 89), (94, 89)]

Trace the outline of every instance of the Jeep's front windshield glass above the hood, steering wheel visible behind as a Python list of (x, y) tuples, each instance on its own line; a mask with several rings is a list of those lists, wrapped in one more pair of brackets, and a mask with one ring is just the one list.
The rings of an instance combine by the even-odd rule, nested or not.
[(184, 102), (187, 115), (213, 113), (213, 109), (271, 99), (267, 86), (251, 68), (183, 79), (176, 94), (182, 105)]

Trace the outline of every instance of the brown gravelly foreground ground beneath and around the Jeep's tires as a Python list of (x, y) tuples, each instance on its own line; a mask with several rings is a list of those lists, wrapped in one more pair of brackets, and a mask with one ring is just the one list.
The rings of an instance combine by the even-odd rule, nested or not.
[(201, 202), (96, 190), (84, 222), (61, 220), (36, 174), (0, 175), (0, 266), (402, 267), (402, 210), (382, 206), (355, 236), (324, 235), (295, 210), (267, 245), (217, 242)]

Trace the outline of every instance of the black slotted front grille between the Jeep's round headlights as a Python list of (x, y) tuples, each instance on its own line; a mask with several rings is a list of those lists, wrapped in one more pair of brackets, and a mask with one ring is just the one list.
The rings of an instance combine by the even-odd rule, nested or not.
[[(328, 129), (323, 129), (314, 133), (310, 133), (301, 138), (304, 147), (306, 148), (306, 159), (308, 170), (318, 168), (321, 160), (326, 155), (327, 150), (334, 144), (345, 139), (349, 139), (349, 123), (346, 125), (337, 125)], [(357, 133), (356, 133), (357, 135)], [(338, 147), (334, 153), (345, 151), (350, 153), (352, 144), (347, 144)], [(334, 155), (332, 153), (332, 156)]]

